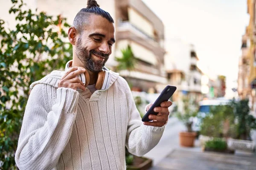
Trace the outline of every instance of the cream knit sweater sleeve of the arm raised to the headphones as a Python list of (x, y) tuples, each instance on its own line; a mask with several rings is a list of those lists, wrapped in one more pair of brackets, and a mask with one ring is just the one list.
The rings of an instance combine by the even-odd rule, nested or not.
[[(47, 94), (48, 93), (48, 94)], [(55, 103), (46, 96), (56, 93)], [(53, 97), (52, 97), (53, 98)], [(20, 170), (52, 169), (68, 143), (79, 93), (38, 84), (26, 105), (15, 161)]]

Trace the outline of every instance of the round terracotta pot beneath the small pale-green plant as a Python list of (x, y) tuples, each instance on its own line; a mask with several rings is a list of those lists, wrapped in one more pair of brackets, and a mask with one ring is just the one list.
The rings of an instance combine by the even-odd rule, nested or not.
[(195, 132), (180, 132), (180, 146), (194, 147)]

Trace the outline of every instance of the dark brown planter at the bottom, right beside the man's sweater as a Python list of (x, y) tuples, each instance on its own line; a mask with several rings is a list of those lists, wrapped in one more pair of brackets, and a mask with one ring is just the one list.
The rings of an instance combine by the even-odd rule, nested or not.
[(134, 156), (132, 165), (127, 165), (127, 170), (148, 170), (152, 166), (152, 159)]

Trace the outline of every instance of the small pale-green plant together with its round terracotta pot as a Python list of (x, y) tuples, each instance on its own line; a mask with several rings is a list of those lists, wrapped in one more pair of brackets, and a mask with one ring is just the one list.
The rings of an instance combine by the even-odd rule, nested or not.
[(197, 111), (189, 105), (189, 99), (183, 99), (183, 113), (177, 112), (177, 118), (184, 123), (186, 131), (179, 133), (180, 145), (184, 147), (193, 147), (197, 133), (192, 131), (193, 118), (197, 115)]

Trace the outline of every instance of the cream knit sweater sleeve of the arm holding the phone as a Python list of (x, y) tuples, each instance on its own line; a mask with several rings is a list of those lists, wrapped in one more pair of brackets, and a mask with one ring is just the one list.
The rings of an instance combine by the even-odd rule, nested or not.
[(160, 141), (165, 125), (153, 127), (144, 125), (140, 113), (136, 108), (129, 87), (126, 87), (128, 100), (128, 129), (126, 136), (126, 147), (128, 151), (136, 156), (143, 156), (153, 149)]

